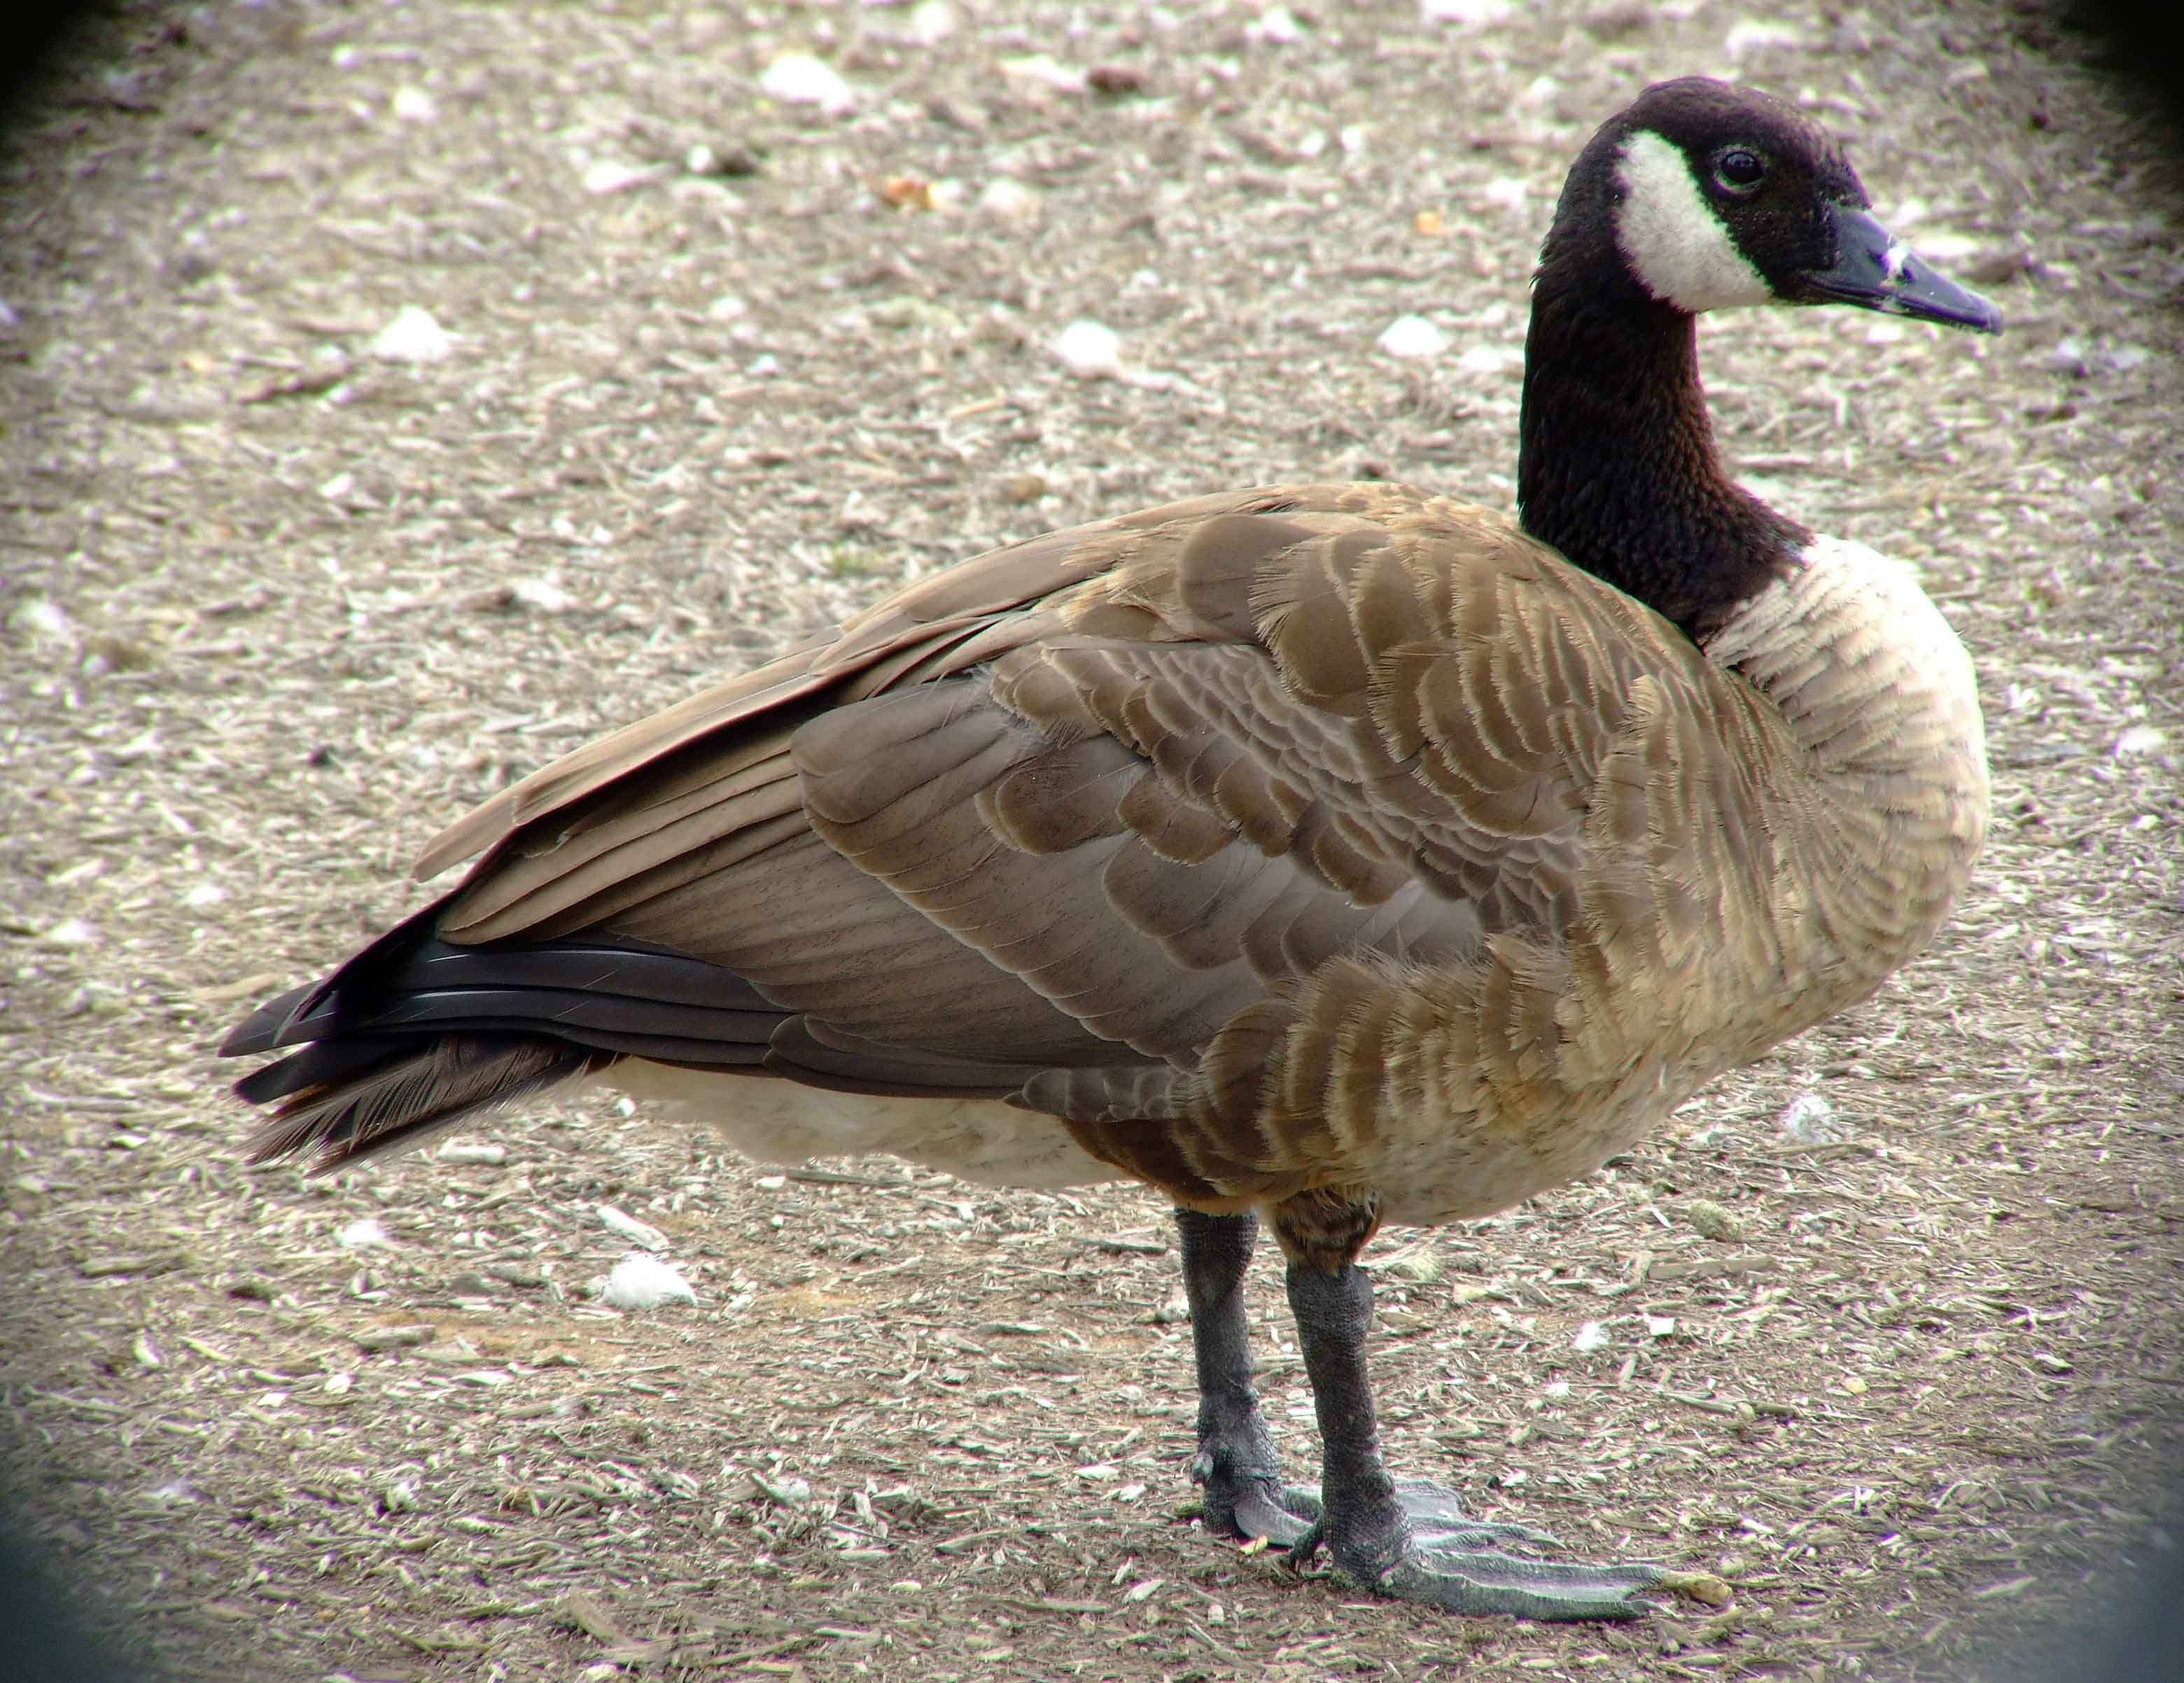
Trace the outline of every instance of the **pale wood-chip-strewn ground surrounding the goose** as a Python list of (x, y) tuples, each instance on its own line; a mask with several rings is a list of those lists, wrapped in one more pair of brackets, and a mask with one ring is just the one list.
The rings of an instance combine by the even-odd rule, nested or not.
[[(2103, 1609), (2184, 1380), (2177, 216), (2038, 13), (1765, 11), (103, 24), (0, 205), (0, 1432), (68, 1576), (223, 1679), (1979, 1679)], [(791, 50), (854, 107), (764, 98)], [(1972, 646), (1994, 838), (1931, 956), (1660, 1144), (1385, 1236), (1374, 1360), (1402, 1467), (1728, 1613), (1461, 1622), (1206, 1537), (1142, 1194), (782, 1174), (598, 1102), (236, 1161), (227, 1024), (585, 736), (1046, 526), (1505, 504), (1559, 175), (1686, 70), (1806, 98), (2009, 312), (1704, 332), (1741, 472)], [(408, 306), (443, 338), (380, 338)], [(1406, 312), (1441, 356), (1376, 345)], [(1079, 317), (1125, 378), (1057, 360)], [(596, 1303), (603, 1205), (695, 1305)], [(1254, 1314), (1304, 1471), (1271, 1262)]]

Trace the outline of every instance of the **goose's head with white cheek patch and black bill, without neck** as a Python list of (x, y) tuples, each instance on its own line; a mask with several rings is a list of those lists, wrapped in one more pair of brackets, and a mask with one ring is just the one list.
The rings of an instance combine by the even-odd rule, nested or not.
[(1684, 314), (1850, 303), (2003, 330), (2001, 310), (1874, 218), (1826, 129), (1749, 87), (1684, 76), (1645, 89), (1586, 148), (1564, 216), (1605, 225), (1631, 282)]

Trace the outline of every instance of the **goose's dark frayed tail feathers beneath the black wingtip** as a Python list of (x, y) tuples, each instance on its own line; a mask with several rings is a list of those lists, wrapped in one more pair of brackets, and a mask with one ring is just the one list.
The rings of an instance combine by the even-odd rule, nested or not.
[(312, 1150), (310, 1170), (323, 1174), (404, 1150), (465, 1115), (607, 1063), (612, 1052), (518, 1035), (321, 1041), (245, 1076), (236, 1091), (258, 1102), (282, 1094), (251, 1133), (253, 1163)]

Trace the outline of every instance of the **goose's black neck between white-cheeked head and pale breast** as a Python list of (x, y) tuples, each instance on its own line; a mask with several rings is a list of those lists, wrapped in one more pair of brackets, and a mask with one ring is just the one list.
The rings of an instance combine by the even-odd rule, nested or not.
[(1548, 236), (1524, 341), (1520, 432), (1524, 530), (1693, 642), (1784, 576), (1813, 539), (1730, 482), (1699, 386), (1693, 317), (1645, 293), (1603, 231)]

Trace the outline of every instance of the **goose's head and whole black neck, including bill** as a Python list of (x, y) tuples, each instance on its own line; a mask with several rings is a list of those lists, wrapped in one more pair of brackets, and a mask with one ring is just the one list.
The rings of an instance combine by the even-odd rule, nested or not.
[(1540, 247), (1518, 511), (1701, 644), (1813, 541), (1723, 469), (1699, 384), (1697, 314), (1758, 303), (2003, 325), (1874, 218), (1797, 107), (1686, 76), (1601, 124)]

